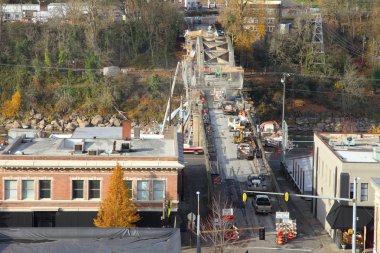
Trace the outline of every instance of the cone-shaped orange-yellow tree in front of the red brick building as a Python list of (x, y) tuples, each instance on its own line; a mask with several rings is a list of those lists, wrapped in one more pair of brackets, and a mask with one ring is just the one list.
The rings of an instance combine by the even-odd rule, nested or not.
[(129, 189), (123, 180), (123, 170), (119, 164), (113, 170), (106, 198), (102, 201), (98, 217), (94, 219), (97, 227), (134, 227), (140, 220), (137, 208), (131, 202)]

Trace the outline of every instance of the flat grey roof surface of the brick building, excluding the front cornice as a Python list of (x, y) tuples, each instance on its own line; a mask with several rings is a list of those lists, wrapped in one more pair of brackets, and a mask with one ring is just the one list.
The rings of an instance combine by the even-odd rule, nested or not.
[[(175, 133), (177, 134), (177, 133)], [(130, 141), (122, 140), (121, 127), (77, 128), (70, 135), (52, 138), (22, 138), (6, 148), (2, 155), (23, 156), (122, 156), (122, 157), (178, 157), (178, 138), (163, 135), (141, 135)], [(78, 145), (82, 146), (78, 150)], [(127, 145), (127, 146), (125, 146)]]

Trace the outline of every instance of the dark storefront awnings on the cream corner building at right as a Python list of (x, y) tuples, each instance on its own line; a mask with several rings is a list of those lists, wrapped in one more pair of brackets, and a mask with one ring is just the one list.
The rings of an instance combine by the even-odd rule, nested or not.
[[(362, 229), (373, 225), (373, 207), (358, 206), (356, 213), (357, 228)], [(352, 228), (352, 206), (342, 205), (336, 201), (327, 214), (326, 220), (333, 229)]]

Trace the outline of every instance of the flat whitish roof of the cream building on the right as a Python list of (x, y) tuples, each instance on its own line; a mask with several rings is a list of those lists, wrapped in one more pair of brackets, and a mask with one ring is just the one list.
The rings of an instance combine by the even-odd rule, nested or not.
[(343, 162), (380, 163), (380, 134), (315, 133)]

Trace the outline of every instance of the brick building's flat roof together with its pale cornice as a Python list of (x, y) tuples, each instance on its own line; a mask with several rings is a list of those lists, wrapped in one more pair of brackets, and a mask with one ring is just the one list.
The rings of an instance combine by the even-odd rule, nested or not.
[[(78, 128), (72, 136), (18, 136), (0, 153), (0, 167), (182, 168), (182, 139), (144, 135), (122, 140), (121, 127)], [(17, 157), (17, 159), (16, 159)]]

